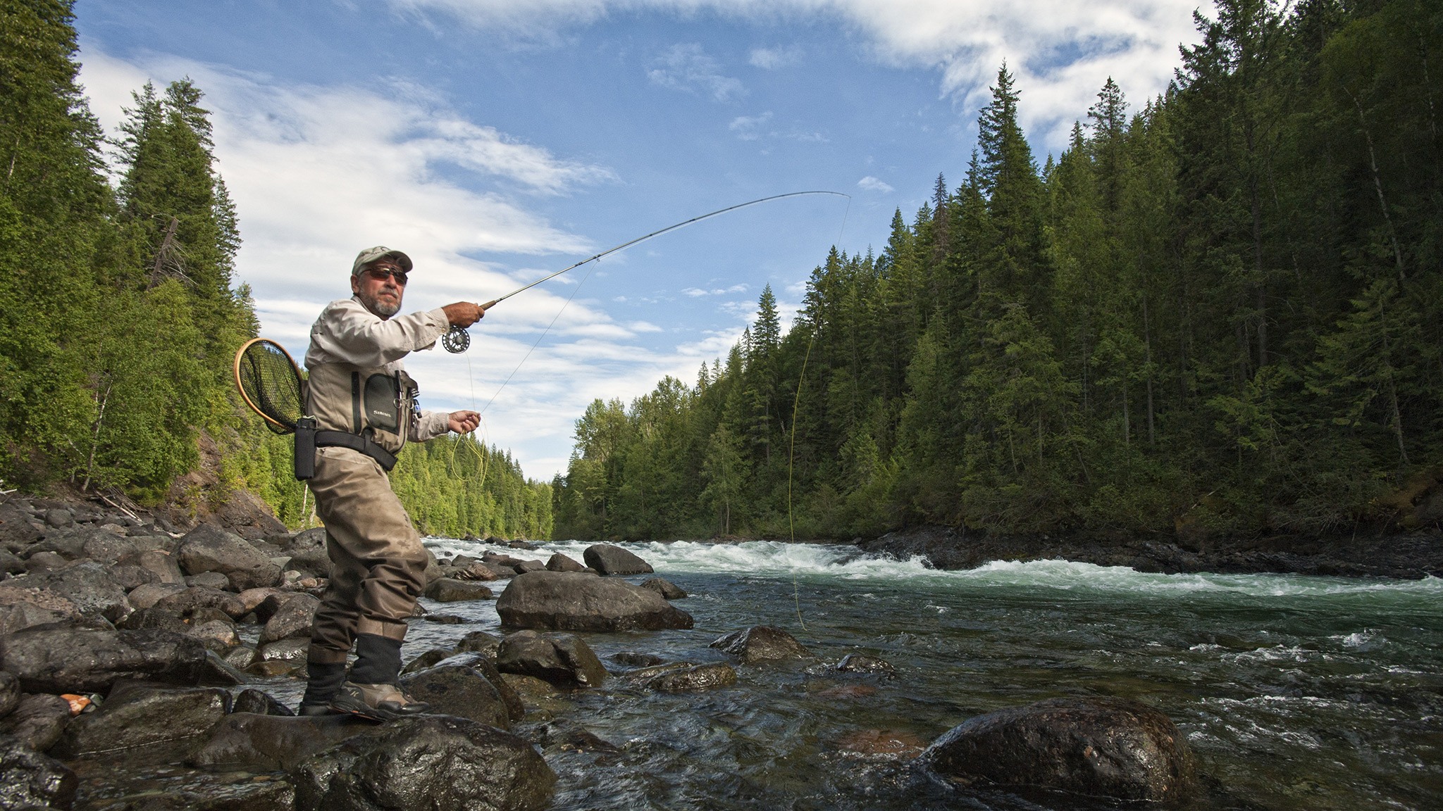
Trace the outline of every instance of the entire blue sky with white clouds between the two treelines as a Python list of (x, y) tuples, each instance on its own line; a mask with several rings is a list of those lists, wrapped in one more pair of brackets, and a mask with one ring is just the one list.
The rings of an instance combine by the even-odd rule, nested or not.
[(75, 12), (81, 81), (111, 131), (147, 79), (190, 76), (206, 92), (240, 209), (240, 281), (261, 333), (297, 356), (320, 307), (349, 293), (364, 247), (407, 251), (405, 306), (426, 309), (494, 299), (749, 199), (851, 195), (763, 203), (612, 254), (499, 304), (465, 356), (407, 359), (423, 407), (489, 403), (485, 439), (550, 478), (593, 398), (629, 401), (665, 374), (694, 381), (763, 286), (789, 320), (830, 247), (880, 250), (893, 209), (911, 221), (939, 172), (955, 186), (1004, 59), (1040, 162), (1108, 76), (1134, 110), (1163, 91), (1179, 43), (1196, 40), (1198, 7), (79, 0)]

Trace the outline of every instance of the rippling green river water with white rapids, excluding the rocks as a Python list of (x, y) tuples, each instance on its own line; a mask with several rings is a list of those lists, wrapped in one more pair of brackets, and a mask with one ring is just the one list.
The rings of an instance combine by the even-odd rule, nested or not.
[[(427, 545), (541, 560), (582, 560), (586, 548)], [(557, 810), (1113, 807), (955, 791), (908, 766), (908, 745), (1059, 696), (1120, 696), (1167, 713), (1202, 765), (1205, 795), (1192, 808), (1443, 807), (1439, 579), (1146, 574), (1061, 560), (939, 571), (844, 545), (622, 545), (690, 593), (675, 605), (696, 628), (582, 634), (608, 667), (620, 672), (610, 657), (622, 652), (729, 661), (709, 642), (750, 625), (786, 629), (817, 659), (737, 667), (734, 687), (710, 693), (612, 678), (543, 700), (518, 732), (547, 739), (576, 724), (615, 745), (545, 748)], [(499, 626), (495, 602), (423, 605), (469, 622), (414, 622), (407, 658)], [(853, 652), (889, 661), (896, 677), (828, 671)], [(899, 752), (869, 753), (877, 740)]]

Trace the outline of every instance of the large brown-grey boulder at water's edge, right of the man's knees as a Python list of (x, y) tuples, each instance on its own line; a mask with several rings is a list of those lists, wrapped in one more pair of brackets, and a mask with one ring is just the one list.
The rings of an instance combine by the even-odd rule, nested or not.
[(691, 615), (649, 589), (579, 571), (515, 576), (496, 600), (501, 623), (553, 631), (691, 628)]

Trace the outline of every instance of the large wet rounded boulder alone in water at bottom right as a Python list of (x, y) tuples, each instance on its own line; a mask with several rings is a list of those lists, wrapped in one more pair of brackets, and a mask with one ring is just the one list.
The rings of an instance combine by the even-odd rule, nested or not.
[(1198, 766), (1160, 710), (1127, 698), (1049, 698), (968, 719), (918, 763), (958, 785), (1030, 785), (1185, 802)]

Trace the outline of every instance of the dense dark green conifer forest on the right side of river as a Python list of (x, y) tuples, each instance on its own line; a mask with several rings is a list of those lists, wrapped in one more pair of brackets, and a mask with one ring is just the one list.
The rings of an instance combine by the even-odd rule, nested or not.
[[(1443, 6), (1224, 0), (1039, 169), (1006, 66), (955, 189), (781, 335), (596, 401), (556, 535), (1348, 531), (1443, 468)], [(1401, 495), (1400, 495), (1401, 488)], [(1401, 512), (1400, 512), (1401, 511)]]

